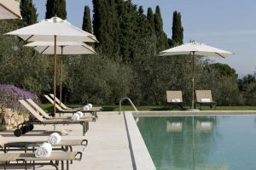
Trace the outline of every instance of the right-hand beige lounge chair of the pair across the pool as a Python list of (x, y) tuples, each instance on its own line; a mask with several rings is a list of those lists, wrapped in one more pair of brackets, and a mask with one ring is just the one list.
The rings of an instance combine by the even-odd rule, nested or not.
[(212, 100), (212, 91), (211, 90), (195, 90), (196, 94), (196, 104), (199, 104), (201, 109), (201, 105), (209, 105), (211, 108), (215, 106), (216, 102)]

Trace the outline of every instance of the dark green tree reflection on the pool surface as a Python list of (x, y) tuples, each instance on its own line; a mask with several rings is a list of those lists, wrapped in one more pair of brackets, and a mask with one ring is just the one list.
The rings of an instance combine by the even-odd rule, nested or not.
[(217, 116), (141, 117), (137, 125), (158, 170), (230, 169), (214, 160), (216, 141), (223, 138)]

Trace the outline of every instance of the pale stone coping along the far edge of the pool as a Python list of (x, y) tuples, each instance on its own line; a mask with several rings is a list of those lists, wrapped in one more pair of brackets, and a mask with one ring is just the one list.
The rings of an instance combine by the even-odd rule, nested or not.
[(132, 111), (133, 116), (256, 116), (256, 111)]

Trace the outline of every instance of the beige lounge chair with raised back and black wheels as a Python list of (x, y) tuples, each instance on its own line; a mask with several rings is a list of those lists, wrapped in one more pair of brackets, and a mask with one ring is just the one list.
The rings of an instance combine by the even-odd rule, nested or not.
[(33, 129), (35, 124), (80, 124), (83, 127), (83, 135), (89, 129), (89, 122), (93, 120), (91, 118), (84, 118), (79, 121), (73, 121), (72, 119), (67, 118), (58, 118), (58, 119), (45, 119), (44, 116), (41, 116), (37, 111), (35, 111), (31, 105), (28, 105), (25, 100), (20, 99), (20, 104), (23, 105), (27, 111), (29, 111), (34, 119), (29, 120), (28, 122), (23, 122), (18, 125), (18, 128), (15, 130), (15, 136), (19, 137), (24, 133), (27, 133)]

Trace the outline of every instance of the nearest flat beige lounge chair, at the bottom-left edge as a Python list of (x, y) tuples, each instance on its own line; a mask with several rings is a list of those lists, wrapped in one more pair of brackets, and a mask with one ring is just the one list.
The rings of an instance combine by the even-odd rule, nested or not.
[(0, 154), (0, 167), (4, 170), (7, 167), (25, 167), (27, 169), (32, 166), (52, 166), (56, 170), (59, 169), (58, 162), (61, 162), (61, 170), (64, 170), (64, 161), (69, 169), (69, 161), (81, 161), (81, 152), (53, 152), (49, 157), (37, 158), (34, 153), (4, 153)]

